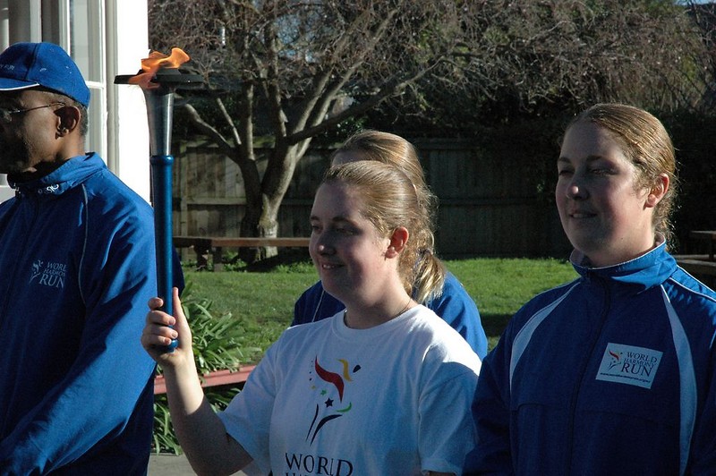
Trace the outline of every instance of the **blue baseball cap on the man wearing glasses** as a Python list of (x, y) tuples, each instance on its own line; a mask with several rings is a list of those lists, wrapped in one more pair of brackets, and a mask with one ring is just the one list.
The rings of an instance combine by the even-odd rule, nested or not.
[(63, 48), (53, 43), (15, 43), (0, 54), (0, 91), (38, 86), (90, 106), (90, 89)]

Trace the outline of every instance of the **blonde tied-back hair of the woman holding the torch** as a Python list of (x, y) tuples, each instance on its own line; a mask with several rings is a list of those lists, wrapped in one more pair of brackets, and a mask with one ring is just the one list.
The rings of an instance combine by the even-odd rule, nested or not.
[(360, 160), (328, 169), (323, 183), (345, 183), (360, 191), (362, 217), (378, 234), (389, 237), (399, 226), (409, 238), (400, 253), (398, 274), (416, 302), (439, 295), (445, 281), (445, 267), (433, 254), (430, 214), (420, 204), (419, 193), (407, 174), (396, 166)]

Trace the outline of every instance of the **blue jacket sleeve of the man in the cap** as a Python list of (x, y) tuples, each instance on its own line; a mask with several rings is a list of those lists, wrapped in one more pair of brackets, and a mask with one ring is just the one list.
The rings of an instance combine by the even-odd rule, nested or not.
[[(116, 444), (128, 427), (137, 426), (141, 431), (122, 445), (149, 458), (152, 402), (150, 394), (141, 395), (147, 395), (154, 362), (140, 336), (147, 302), (157, 293), (154, 233), (150, 211), (124, 218), (90, 223), (79, 268), (86, 310), (79, 352), (64, 378), (0, 442), (4, 473), (53, 472)], [(135, 414), (141, 421), (132, 419)]]

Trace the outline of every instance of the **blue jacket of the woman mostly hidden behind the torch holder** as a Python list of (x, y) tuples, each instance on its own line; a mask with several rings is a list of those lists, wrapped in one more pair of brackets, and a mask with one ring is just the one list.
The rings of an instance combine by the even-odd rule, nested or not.
[[(439, 315), (463, 336), (480, 359), (487, 354), (487, 336), (482, 328), (480, 312), (473, 298), (452, 273), (445, 276), (442, 293), (425, 302), (425, 307)], [(301, 294), (294, 304), (292, 326), (330, 318), (344, 310), (343, 302), (326, 293), (320, 281)]]

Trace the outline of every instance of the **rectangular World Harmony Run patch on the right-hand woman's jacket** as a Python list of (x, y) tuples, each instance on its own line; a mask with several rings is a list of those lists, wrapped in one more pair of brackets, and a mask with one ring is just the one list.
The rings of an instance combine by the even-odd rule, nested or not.
[(607, 344), (597, 380), (652, 388), (663, 353), (634, 345)]

